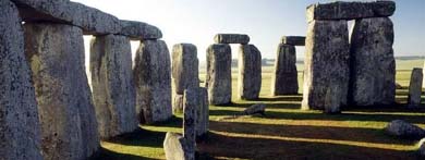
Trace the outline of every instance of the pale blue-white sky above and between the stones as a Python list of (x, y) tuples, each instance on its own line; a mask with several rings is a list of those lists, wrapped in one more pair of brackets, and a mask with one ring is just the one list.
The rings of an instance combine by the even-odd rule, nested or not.
[[(162, 30), (169, 50), (180, 42), (194, 44), (205, 61), (206, 49), (218, 33), (247, 34), (263, 58), (274, 59), (282, 36), (305, 36), (305, 9), (331, 0), (72, 0), (122, 20), (141, 21)], [(394, 54), (425, 56), (425, 0), (396, 0)], [(85, 37), (86, 50), (90, 37)], [(132, 42), (132, 49), (138, 47)], [(238, 57), (238, 46), (232, 46)], [(296, 48), (298, 59), (304, 48)]]

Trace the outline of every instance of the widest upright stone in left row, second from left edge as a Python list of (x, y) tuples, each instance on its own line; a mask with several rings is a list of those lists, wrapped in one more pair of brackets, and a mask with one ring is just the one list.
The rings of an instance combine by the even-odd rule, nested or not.
[(25, 23), (45, 159), (86, 159), (100, 147), (81, 28)]

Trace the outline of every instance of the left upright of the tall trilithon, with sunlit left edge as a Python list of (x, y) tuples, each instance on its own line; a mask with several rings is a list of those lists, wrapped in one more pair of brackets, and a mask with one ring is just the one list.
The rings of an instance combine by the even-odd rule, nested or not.
[(329, 103), (332, 108), (347, 104), (350, 56), (347, 25), (347, 21), (308, 24), (302, 109), (324, 110)]

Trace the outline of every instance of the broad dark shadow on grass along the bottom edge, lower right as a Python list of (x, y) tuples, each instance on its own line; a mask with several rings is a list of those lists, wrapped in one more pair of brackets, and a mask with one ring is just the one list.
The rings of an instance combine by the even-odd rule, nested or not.
[(259, 137), (230, 137), (210, 134), (206, 144), (197, 147), (214, 157), (246, 159), (417, 159), (412, 151), (367, 146), (295, 141)]

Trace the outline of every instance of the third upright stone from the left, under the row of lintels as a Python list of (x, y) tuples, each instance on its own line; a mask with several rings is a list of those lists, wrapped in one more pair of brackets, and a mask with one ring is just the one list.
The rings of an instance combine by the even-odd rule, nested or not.
[(93, 100), (101, 138), (137, 128), (130, 39), (107, 35), (92, 39)]

